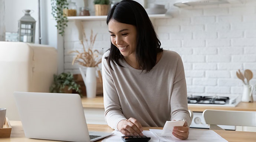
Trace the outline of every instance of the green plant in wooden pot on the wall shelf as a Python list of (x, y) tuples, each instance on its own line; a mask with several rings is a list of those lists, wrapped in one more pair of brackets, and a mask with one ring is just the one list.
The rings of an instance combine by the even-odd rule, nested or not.
[(95, 15), (107, 15), (109, 9), (109, 0), (93, 0), (94, 8), (95, 8)]

